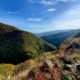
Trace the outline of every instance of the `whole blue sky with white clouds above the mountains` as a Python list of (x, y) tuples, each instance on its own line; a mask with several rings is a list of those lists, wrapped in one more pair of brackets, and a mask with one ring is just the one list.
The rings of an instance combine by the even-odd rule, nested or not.
[(80, 28), (80, 0), (0, 0), (0, 22), (40, 33)]

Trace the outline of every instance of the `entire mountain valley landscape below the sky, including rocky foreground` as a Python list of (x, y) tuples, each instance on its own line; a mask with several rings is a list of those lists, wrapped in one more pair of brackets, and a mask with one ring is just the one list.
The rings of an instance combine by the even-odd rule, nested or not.
[(0, 79), (80, 80), (80, 30), (45, 37), (0, 23)]

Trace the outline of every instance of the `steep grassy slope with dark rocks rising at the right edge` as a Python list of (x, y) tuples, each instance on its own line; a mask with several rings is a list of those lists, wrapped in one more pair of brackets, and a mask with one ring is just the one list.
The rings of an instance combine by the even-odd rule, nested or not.
[(80, 53), (80, 32), (73, 38), (66, 39), (60, 46), (60, 51), (65, 53)]

